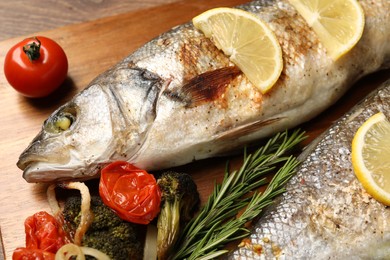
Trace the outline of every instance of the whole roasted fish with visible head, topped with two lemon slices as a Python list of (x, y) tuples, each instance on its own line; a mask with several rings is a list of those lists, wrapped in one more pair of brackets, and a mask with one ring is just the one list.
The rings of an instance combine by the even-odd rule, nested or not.
[(362, 0), (359, 43), (333, 61), (288, 1), (239, 6), (266, 21), (284, 69), (262, 95), (192, 23), (160, 35), (55, 111), (17, 163), (28, 182), (89, 179), (114, 160), (147, 170), (229, 152), (296, 126), (390, 60), (390, 3)]

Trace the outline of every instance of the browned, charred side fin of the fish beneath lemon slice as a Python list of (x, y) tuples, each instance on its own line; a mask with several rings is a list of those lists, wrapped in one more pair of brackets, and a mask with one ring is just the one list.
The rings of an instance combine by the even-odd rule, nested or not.
[(185, 103), (186, 107), (196, 107), (218, 99), (228, 84), (242, 72), (236, 66), (224, 67), (199, 74), (180, 89), (180, 93), (168, 93)]

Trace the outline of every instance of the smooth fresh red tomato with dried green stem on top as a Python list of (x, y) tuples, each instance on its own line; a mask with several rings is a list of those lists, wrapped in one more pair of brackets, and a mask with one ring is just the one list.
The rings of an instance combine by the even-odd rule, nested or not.
[(5, 56), (9, 84), (26, 97), (44, 97), (57, 89), (68, 73), (68, 59), (55, 41), (37, 36), (14, 45)]

